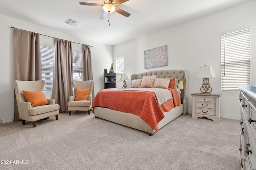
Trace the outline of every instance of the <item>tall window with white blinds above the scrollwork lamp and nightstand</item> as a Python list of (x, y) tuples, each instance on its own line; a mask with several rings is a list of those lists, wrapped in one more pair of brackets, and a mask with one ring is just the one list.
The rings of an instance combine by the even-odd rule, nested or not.
[(221, 90), (239, 90), (250, 84), (251, 29), (221, 34)]

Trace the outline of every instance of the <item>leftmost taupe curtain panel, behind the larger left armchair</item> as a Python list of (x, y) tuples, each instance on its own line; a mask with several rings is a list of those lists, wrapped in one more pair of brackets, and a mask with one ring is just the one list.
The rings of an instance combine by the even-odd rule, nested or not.
[[(40, 34), (22, 29), (13, 29), (14, 79), (42, 80)], [(14, 94), (14, 121), (20, 120)]]

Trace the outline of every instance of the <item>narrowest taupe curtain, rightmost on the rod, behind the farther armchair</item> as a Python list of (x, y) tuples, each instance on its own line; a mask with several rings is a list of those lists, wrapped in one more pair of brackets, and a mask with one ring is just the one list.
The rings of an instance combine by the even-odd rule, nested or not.
[[(83, 45), (83, 80), (93, 80), (92, 59), (90, 45)], [(94, 89), (94, 84), (92, 85)], [(92, 91), (92, 101), (94, 101), (94, 90)]]

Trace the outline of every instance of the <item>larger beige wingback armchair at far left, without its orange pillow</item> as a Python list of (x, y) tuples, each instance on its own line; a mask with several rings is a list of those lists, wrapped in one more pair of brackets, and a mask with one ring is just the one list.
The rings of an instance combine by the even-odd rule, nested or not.
[(19, 117), (23, 125), (26, 125), (25, 121), (32, 121), (33, 126), (36, 127), (36, 121), (45, 119), (47, 117), (55, 115), (58, 120), (60, 106), (55, 104), (54, 99), (47, 99), (48, 104), (43, 106), (32, 107), (30, 102), (26, 101), (26, 98), (22, 90), (34, 91), (44, 89), (44, 80), (38, 81), (20, 81), (14, 80), (14, 90), (17, 100), (17, 106), (19, 111)]

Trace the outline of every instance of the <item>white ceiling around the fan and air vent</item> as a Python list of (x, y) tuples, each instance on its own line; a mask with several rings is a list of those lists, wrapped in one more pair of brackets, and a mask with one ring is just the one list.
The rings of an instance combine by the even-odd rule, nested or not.
[[(117, 7), (131, 15), (127, 18), (113, 12), (109, 15), (110, 25), (108, 16), (100, 20), (101, 6), (79, 4), (104, 4), (103, 0), (0, 0), (0, 14), (116, 45), (246, 1), (129, 0)], [(81, 23), (76, 27), (68, 25), (64, 23), (68, 18)]]

